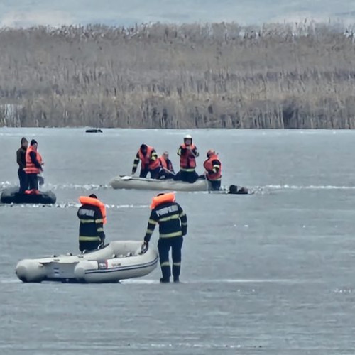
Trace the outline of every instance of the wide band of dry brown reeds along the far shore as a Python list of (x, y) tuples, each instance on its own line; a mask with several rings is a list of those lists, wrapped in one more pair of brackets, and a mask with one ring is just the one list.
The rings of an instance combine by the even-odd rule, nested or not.
[(0, 31), (0, 126), (353, 129), (354, 80), (331, 26)]

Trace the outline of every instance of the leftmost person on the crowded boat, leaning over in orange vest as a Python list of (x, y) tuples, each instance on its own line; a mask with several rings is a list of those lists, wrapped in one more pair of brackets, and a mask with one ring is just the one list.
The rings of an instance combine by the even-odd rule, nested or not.
[(152, 179), (159, 178), (161, 168), (160, 160), (153, 147), (147, 146), (146, 144), (141, 145), (133, 161), (132, 175), (137, 171), (139, 160), (141, 160), (141, 173), (139, 174), (139, 178), (146, 178), (148, 173), (151, 173)]

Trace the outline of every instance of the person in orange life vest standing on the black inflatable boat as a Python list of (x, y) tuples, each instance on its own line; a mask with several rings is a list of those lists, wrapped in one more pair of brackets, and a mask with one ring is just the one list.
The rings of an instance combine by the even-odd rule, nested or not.
[(42, 157), (37, 151), (38, 143), (32, 139), (30, 146), (26, 151), (26, 174), (29, 185), (29, 190), (26, 190), (26, 194), (38, 194), (38, 174), (43, 171)]

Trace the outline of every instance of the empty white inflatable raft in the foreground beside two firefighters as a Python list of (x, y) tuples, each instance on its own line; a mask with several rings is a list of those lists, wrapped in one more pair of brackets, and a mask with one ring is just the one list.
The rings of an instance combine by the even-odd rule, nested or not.
[(142, 250), (141, 241), (111, 241), (81, 255), (24, 259), (18, 262), (16, 275), (25, 283), (114, 283), (147, 275), (157, 263), (158, 251), (153, 246)]

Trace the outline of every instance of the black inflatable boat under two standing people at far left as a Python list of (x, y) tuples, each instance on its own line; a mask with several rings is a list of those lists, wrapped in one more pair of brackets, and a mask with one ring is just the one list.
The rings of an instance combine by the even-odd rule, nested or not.
[(51, 191), (40, 192), (38, 195), (27, 195), (18, 192), (18, 187), (5, 189), (0, 196), (2, 203), (53, 204), (57, 197)]

